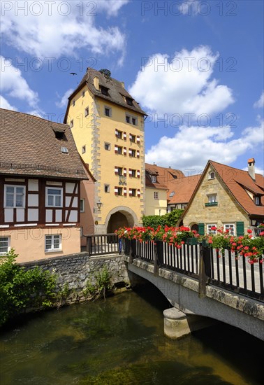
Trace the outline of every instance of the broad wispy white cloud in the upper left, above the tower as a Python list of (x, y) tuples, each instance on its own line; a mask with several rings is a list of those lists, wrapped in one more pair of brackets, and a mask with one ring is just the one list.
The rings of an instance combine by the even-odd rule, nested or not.
[(98, 13), (109, 17), (117, 15), (126, 3), (119, 0), (8, 1), (10, 10), (5, 10), (1, 18), (1, 32), (8, 45), (42, 59), (77, 56), (79, 48), (101, 54), (113, 50), (123, 52), (124, 34), (117, 27), (96, 27), (96, 18)]

